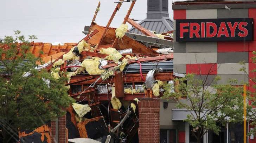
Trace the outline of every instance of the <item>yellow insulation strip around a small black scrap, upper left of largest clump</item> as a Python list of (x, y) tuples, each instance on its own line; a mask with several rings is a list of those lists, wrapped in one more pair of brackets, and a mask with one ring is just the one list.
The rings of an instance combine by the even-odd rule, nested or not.
[[(88, 47), (88, 44), (84, 40), (79, 42), (78, 45), (75, 47), (78, 48), (79, 53), (81, 53), (84, 50), (89, 51), (88, 49), (84, 49), (84, 48)], [(78, 60), (79, 59), (79, 57), (77, 57), (75, 54), (73, 54), (73, 50), (75, 49), (75, 47), (72, 47), (68, 53), (63, 55), (63, 60)]]

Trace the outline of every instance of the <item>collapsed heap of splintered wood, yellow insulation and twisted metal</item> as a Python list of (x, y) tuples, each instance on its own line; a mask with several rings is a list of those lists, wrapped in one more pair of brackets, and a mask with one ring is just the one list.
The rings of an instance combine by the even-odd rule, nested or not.
[[(52, 77), (68, 78), (69, 96), (77, 101), (66, 114), (69, 142), (136, 142), (138, 98), (159, 98), (164, 92), (163, 81), (174, 78), (172, 53), (158, 53), (159, 48), (126, 36), (126, 22), (131, 22), (129, 14), (135, 2), (116, 29), (109, 25), (122, 2), (117, 4), (106, 27), (94, 22), (99, 3), (86, 37), (72, 48), (53, 48), (54, 60), (43, 58)], [(139, 30), (152, 36), (147, 29)], [(171, 37), (168, 33), (154, 33), (153, 37), (165, 40)], [(24, 137), (20, 134), (20, 138)]]

